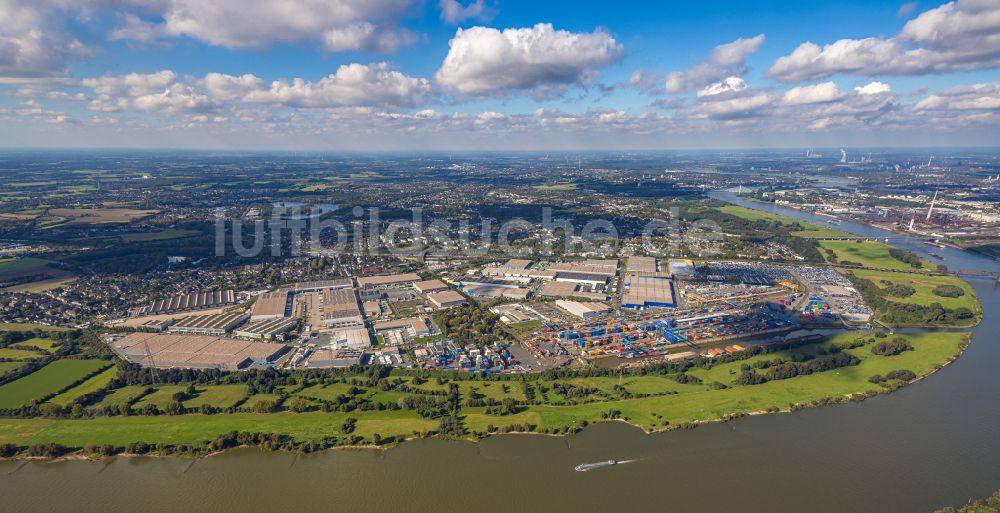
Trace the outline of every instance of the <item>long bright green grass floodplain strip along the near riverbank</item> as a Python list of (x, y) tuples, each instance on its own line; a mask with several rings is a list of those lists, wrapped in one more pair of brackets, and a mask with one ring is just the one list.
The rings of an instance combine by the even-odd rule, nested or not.
[[(538, 431), (575, 427), (581, 421), (598, 422), (607, 412), (620, 412), (617, 416), (647, 430), (665, 429), (689, 423), (707, 422), (762, 411), (777, 411), (793, 405), (820, 404), (842, 400), (847, 396), (863, 396), (878, 393), (885, 388), (872, 383), (873, 375), (885, 375), (890, 371), (906, 369), (917, 377), (923, 377), (956, 357), (968, 334), (965, 333), (923, 333), (901, 335), (912, 346), (911, 350), (895, 356), (879, 356), (872, 353), (872, 344), (845, 351), (857, 356), (858, 365), (836, 368), (794, 378), (768, 381), (759, 385), (737, 385), (736, 378), (744, 365), (781, 358), (797, 361), (809, 355), (829, 352), (833, 344), (846, 345), (870, 335), (845, 334), (807, 346), (785, 351), (758, 355), (746, 360), (720, 363), (709, 368), (694, 368), (687, 374), (697, 377), (701, 383), (681, 384), (677, 375), (666, 376), (626, 376), (617, 377), (574, 377), (552, 380), (541, 376), (526, 376), (536, 401), (521, 411), (509, 415), (487, 414), (484, 407), (463, 407), (461, 415), (466, 429), (470, 432), (485, 432), (488, 426), (512, 426), (531, 424)], [(886, 340), (886, 339), (880, 339)], [(26, 379), (26, 378), (25, 378)], [(406, 379), (406, 378), (404, 378)], [(19, 380), (19, 381), (23, 381)], [(423, 390), (446, 390), (445, 382), (435, 379), (419, 385)], [(463, 404), (473, 390), (487, 398), (516, 401), (527, 399), (525, 387), (520, 381), (455, 381), (462, 393)], [(725, 384), (719, 389), (713, 382)], [(15, 382), (18, 383), (18, 382)], [(580, 404), (559, 393), (567, 385), (590, 389)], [(242, 385), (221, 385), (202, 387), (205, 390), (198, 397), (185, 401), (185, 406), (197, 407), (209, 390), (232, 387), (227, 392), (212, 392), (213, 399), (221, 406), (239, 395), (236, 387)], [(140, 400), (158, 398), (169, 399), (173, 393), (186, 388), (183, 385), (160, 386), (158, 390)], [(351, 386), (347, 383), (312, 385), (302, 390), (292, 390), (293, 397), (331, 400), (346, 394)], [(375, 388), (357, 387), (357, 394), (365, 395), (377, 403), (396, 402), (408, 394), (403, 391), (380, 391)], [(126, 387), (114, 391), (101, 403), (125, 404), (142, 393), (144, 387)], [(245, 388), (242, 389), (245, 394)], [(636, 397), (639, 394), (655, 394)], [(0, 398), (6, 399), (0, 391)], [(256, 397), (256, 396), (255, 396)], [(263, 396), (262, 396), (263, 397)], [(24, 399), (20, 399), (23, 402)], [(251, 397), (245, 405), (254, 401)], [(287, 401), (286, 401), (287, 402)], [(197, 443), (211, 440), (231, 431), (254, 431), (281, 433), (297, 440), (307, 441), (325, 436), (341, 435), (341, 424), (347, 418), (357, 419), (355, 434), (370, 440), (378, 433), (381, 437), (396, 439), (412, 436), (414, 433), (438, 429), (438, 419), (421, 418), (412, 410), (355, 410), (351, 412), (308, 412), (292, 413), (282, 411), (273, 414), (234, 413), (202, 415), (156, 416), (112, 416), (88, 420), (64, 420), (52, 418), (0, 419), (0, 444), (12, 443), (27, 446), (38, 443), (59, 443), (69, 447), (85, 444), (114, 444), (124, 446), (130, 442), (143, 441), (166, 444)]]

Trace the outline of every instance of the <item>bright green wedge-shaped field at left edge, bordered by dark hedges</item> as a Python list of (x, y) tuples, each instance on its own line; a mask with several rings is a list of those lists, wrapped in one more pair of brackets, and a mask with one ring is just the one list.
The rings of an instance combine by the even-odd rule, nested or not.
[(0, 408), (29, 405), (109, 365), (111, 363), (106, 360), (56, 360), (21, 379), (0, 386)]

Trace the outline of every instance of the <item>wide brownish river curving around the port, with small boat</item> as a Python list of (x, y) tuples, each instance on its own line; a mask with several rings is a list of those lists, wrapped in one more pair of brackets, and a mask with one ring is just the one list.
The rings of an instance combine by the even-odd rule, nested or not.
[[(806, 213), (713, 196), (804, 221)], [(867, 237), (894, 236), (845, 222)], [(951, 269), (986, 258), (916, 240)], [(879, 512), (919, 513), (1000, 488), (1000, 288), (970, 280), (986, 315), (973, 343), (925, 380), (863, 403), (647, 435), (600, 424), (567, 437), (295, 455), (242, 449), (202, 460), (0, 463), (0, 511)], [(575, 472), (580, 463), (639, 461)]]

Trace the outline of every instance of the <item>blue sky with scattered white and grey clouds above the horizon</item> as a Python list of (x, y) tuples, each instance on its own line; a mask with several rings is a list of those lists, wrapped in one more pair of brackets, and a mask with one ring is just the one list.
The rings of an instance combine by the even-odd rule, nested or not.
[(0, 146), (995, 145), (998, 65), (996, 0), (0, 0)]

